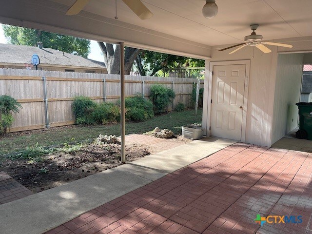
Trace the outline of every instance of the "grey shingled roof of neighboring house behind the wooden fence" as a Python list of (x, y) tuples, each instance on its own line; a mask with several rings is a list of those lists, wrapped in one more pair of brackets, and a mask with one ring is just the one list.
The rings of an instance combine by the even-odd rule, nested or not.
[(0, 54), (0, 63), (30, 63), (32, 56), (37, 54), (41, 65), (106, 68), (102, 62), (44, 47), (0, 43)]

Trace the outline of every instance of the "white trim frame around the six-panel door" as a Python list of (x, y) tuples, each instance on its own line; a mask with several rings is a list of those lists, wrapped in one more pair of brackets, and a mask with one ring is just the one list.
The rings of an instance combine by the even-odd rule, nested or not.
[[(242, 117), (242, 133), (241, 142), (245, 142), (246, 139), (246, 121), (247, 121), (247, 104), (248, 104), (248, 88), (249, 88), (249, 74), (250, 74), (250, 60), (234, 60), (234, 61), (215, 61), (209, 64), (209, 76), (208, 80), (208, 94), (204, 94), (207, 97), (207, 118), (206, 118), (206, 136), (210, 136), (211, 115), (212, 115), (212, 89), (213, 89), (213, 68), (218, 65), (246, 65), (245, 71), (245, 84), (244, 84), (244, 104), (243, 104), (243, 117)], [(205, 102), (204, 102), (205, 103)], [(204, 119), (203, 119), (204, 120)]]

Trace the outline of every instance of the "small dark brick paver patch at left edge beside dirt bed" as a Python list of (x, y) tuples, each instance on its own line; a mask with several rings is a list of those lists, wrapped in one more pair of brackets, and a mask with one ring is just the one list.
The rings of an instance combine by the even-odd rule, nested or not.
[(0, 172), (0, 204), (15, 201), (28, 195), (32, 195), (29, 189), (21, 185), (5, 172)]

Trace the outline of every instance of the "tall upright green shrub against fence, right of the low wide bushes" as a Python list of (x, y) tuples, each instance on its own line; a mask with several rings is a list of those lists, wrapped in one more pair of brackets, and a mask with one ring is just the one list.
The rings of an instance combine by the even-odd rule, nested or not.
[(168, 105), (176, 97), (175, 91), (160, 84), (151, 86), (151, 95), (156, 113), (167, 112)]

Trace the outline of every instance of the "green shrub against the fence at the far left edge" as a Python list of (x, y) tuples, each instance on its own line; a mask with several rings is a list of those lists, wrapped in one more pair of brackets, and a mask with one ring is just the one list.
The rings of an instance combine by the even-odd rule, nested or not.
[(0, 130), (2, 129), (4, 135), (14, 122), (12, 114), (19, 113), (20, 108), (21, 105), (16, 99), (7, 95), (0, 96)]

